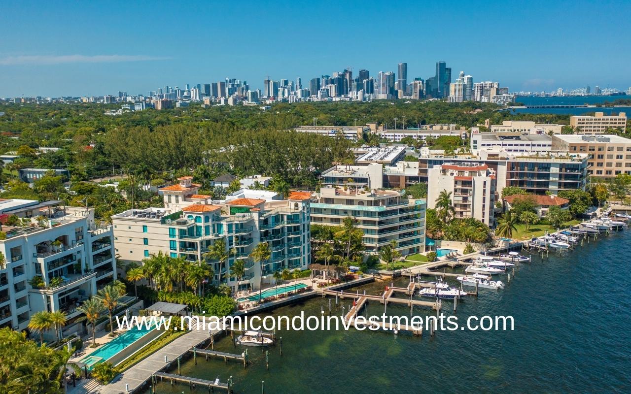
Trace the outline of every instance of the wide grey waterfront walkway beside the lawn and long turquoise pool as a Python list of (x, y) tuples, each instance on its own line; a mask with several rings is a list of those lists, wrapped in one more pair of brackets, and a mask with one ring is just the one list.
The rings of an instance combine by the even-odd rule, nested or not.
[[(218, 330), (213, 332), (213, 334), (217, 332)], [(121, 373), (115, 381), (107, 386), (102, 386), (98, 392), (102, 394), (126, 393), (126, 385), (129, 385), (130, 392), (134, 391), (139, 386), (142, 386), (144, 382), (150, 380), (153, 374), (167, 367), (168, 364), (164, 362), (165, 356), (167, 356), (169, 364), (174, 361), (177, 362), (177, 357), (182, 356), (192, 347), (201, 344), (201, 342), (209, 338), (210, 334), (208, 331), (192, 330), (127, 369), (127, 371)]]

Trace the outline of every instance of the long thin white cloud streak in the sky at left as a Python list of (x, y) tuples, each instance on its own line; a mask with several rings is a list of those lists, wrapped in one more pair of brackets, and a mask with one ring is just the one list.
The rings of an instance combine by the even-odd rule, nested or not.
[(0, 66), (19, 64), (117, 63), (167, 60), (168, 57), (146, 55), (22, 55), (0, 58)]

